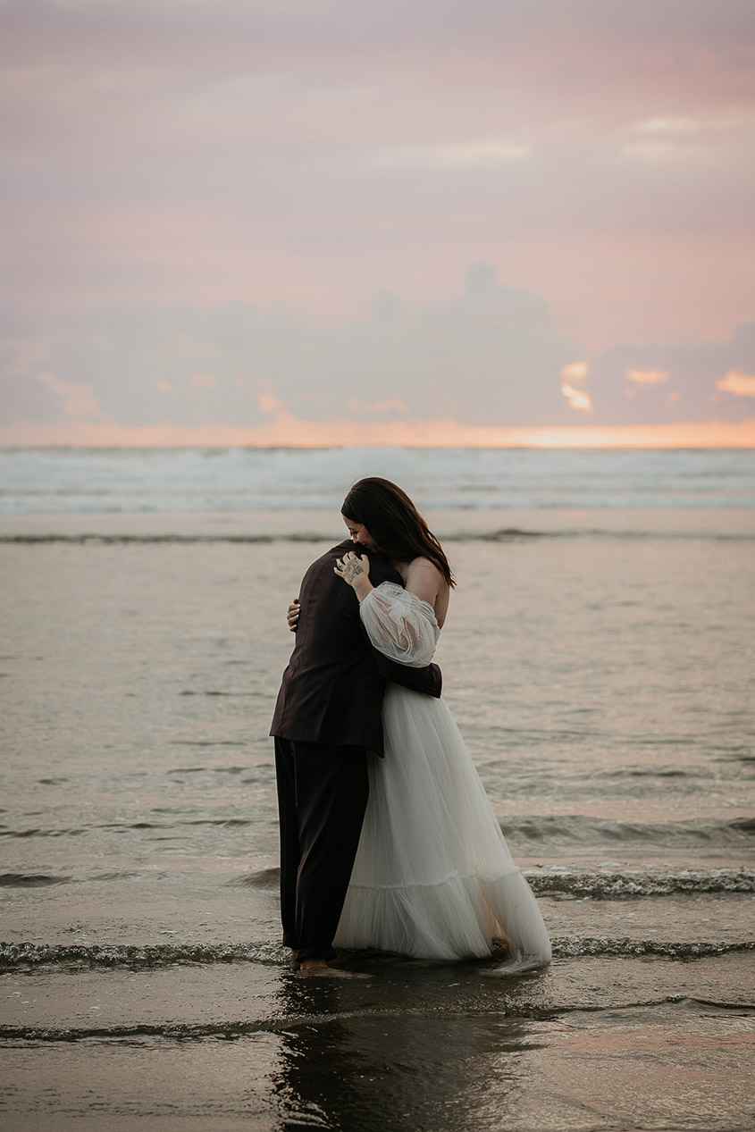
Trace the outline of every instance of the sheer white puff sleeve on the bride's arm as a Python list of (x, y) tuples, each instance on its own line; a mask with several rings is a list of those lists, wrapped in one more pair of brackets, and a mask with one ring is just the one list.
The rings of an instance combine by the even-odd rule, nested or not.
[(384, 657), (424, 668), (432, 660), (440, 628), (432, 606), (395, 582), (370, 590), (359, 612), (370, 643)]

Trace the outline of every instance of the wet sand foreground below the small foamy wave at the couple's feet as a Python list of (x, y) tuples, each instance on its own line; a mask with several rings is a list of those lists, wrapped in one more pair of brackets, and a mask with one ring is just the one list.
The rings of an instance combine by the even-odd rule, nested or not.
[[(752, 954), (694, 962), (360, 958), (2, 980), (9, 1129), (753, 1126)], [(494, 977), (486, 977), (492, 975)]]

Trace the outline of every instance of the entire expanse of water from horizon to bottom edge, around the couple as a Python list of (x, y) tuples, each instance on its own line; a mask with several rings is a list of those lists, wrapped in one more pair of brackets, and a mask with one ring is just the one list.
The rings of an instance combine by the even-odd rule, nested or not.
[[(554, 943), (497, 975), (277, 920), (285, 608), (360, 475)], [(8, 1127), (755, 1126), (755, 452), (0, 452)], [(327, 985), (325, 985), (327, 984)]]

